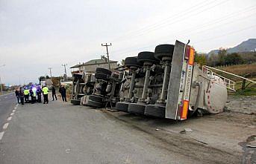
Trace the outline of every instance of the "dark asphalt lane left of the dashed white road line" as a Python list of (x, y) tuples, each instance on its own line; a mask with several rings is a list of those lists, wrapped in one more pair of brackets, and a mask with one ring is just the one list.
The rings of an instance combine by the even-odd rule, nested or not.
[(16, 96), (13, 93), (0, 96), (0, 127), (7, 121), (7, 117), (10, 115), (16, 104)]

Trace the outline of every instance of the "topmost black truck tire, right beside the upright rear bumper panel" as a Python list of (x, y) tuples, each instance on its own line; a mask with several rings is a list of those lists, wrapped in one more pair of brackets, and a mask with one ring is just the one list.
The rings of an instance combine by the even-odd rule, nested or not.
[(167, 44), (157, 45), (157, 47), (154, 48), (154, 57), (159, 60), (162, 60), (163, 57), (169, 57), (169, 59), (172, 59), (174, 47), (174, 45)]

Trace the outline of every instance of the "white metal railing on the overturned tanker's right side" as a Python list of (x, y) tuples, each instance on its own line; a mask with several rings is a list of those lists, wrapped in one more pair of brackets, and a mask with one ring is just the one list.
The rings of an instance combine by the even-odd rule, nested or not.
[(202, 66), (202, 72), (204, 73), (204, 75), (207, 78), (209, 78), (213, 82), (216, 82), (217, 84), (222, 85), (222, 86), (224, 86), (225, 88), (228, 88), (231, 91), (236, 91), (235, 88), (234, 88), (234, 85), (236, 84), (236, 82), (213, 72), (213, 70), (210, 70), (208, 68), (208, 66), (206, 66), (206, 65)]

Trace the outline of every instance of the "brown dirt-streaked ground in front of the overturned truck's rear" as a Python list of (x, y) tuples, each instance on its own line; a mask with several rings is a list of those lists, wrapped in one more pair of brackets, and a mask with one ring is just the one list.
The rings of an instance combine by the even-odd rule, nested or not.
[[(243, 150), (238, 143), (246, 141), (248, 135), (252, 134), (252, 129), (244, 128), (243, 123), (237, 122), (238, 125), (233, 125), (231, 119), (227, 121), (226, 113), (219, 114), (215, 118), (213, 116), (216, 115), (206, 115), (182, 122), (123, 112), (104, 111), (104, 113), (159, 140), (154, 144), (158, 148), (184, 154), (205, 163), (240, 163)], [(240, 116), (231, 118), (239, 119), (238, 117)], [(248, 121), (247, 124), (251, 125), (252, 122)], [(179, 132), (184, 128), (191, 128), (193, 132), (180, 134)], [(241, 131), (242, 129), (244, 131)], [(246, 131), (251, 132), (246, 133)]]

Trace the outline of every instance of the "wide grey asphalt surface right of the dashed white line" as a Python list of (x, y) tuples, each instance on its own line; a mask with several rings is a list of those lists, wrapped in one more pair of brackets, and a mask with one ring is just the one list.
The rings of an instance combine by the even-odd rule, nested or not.
[(200, 163), (102, 111), (69, 102), (18, 105), (8, 122), (1, 164)]

